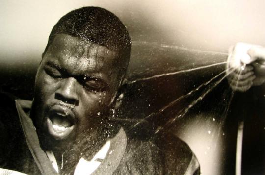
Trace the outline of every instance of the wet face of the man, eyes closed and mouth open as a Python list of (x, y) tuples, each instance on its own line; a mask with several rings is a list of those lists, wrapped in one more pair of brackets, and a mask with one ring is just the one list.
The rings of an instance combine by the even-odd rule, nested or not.
[(103, 125), (120, 85), (115, 59), (104, 46), (56, 35), (36, 75), (31, 113), (38, 134), (68, 143)]

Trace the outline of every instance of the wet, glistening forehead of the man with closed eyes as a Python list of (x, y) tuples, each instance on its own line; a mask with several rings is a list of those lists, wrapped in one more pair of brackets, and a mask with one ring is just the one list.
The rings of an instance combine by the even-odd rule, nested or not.
[(109, 74), (118, 71), (115, 64), (115, 60), (118, 59), (117, 51), (66, 34), (54, 37), (44, 58), (46, 61), (59, 64), (72, 74)]

